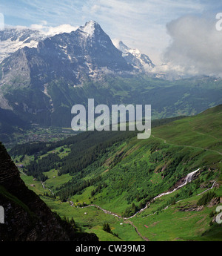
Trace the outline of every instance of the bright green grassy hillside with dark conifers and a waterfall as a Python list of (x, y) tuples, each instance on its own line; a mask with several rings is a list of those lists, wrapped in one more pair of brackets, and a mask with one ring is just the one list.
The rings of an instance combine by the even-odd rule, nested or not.
[[(21, 163), (27, 174), (34, 174), (34, 167), (45, 161), (50, 166), (49, 153), (56, 154), (56, 165), (38, 169), (47, 176), (44, 186), (53, 194), (38, 180), (21, 177), (35, 184), (33, 190), (58, 214), (74, 217), (83, 230), (95, 232), (101, 240), (222, 240), (221, 226), (215, 223), (222, 196), (221, 116), (218, 105), (197, 116), (153, 125), (147, 140), (138, 140), (133, 133), (84, 133), (41, 145), (47, 154), (36, 147), (38, 143), (29, 145), (36, 147), (36, 160), (35, 151), (27, 156), (24, 145), (11, 153), (18, 163), (24, 155)], [(41, 161), (43, 157), (47, 158)], [(153, 200), (177, 188), (197, 169), (192, 182)], [(209, 197), (200, 203), (205, 194)], [(140, 209), (144, 211), (137, 213)], [(104, 223), (110, 223), (118, 236), (104, 232)]]

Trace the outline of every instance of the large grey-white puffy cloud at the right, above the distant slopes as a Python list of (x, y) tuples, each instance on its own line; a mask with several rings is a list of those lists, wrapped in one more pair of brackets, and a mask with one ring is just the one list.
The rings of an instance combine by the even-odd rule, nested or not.
[(203, 16), (184, 16), (166, 25), (171, 44), (164, 61), (184, 73), (222, 76), (222, 31), (217, 20)]

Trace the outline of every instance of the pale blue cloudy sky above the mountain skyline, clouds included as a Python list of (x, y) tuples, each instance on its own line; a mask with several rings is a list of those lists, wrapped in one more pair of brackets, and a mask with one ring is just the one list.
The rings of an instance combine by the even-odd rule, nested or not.
[(211, 65), (222, 70), (222, 31), (215, 29), (221, 0), (0, 0), (0, 13), (5, 26), (45, 33), (70, 32), (94, 20), (111, 39), (138, 48), (155, 65), (169, 62), (186, 71), (195, 65), (194, 73), (214, 73)]

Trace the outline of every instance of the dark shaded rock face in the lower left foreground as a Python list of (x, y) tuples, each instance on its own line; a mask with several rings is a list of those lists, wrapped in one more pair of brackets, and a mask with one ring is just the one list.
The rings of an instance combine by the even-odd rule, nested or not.
[(0, 206), (4, 223), (0, 224), (2, 241), (97, 241), (95, 234), (76, 233), (64, 228), (60, 217), (30, 191), (19, 177), (19, 170), (0, 142)]

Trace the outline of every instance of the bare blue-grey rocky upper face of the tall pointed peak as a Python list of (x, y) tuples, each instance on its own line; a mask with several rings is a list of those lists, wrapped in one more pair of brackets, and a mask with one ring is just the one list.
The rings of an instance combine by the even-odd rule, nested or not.
[(1, 67), (0, 87), (9, 84), (14, 88), (30, 84), (43, 88), (61, 78), (78, 85), (86, 76), (133, 69), (96, 22), (44, 39), (37, 47), (22, 47), (4, 59)]

